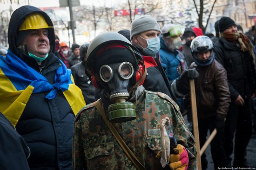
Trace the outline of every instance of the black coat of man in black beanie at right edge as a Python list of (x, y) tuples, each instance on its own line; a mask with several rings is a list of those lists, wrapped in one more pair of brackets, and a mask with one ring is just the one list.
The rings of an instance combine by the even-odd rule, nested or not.
[(231, 43), (223, 38), (215, 44), (216, 60), (227, 71), (229, 91), (232, 101), (240, 94), (243, 98), (251, 98), (256, 89), (256, 71), (253, 57), (249, 52), (242, 52), (239, 43)]

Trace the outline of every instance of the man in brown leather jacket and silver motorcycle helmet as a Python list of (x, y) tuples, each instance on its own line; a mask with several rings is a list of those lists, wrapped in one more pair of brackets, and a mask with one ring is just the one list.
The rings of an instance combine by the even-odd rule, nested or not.
[[(195, 93), (200, 147), (206, 141), (208, 130), (211, 133), (216, 128), (216, 137), (211, 142), (211, 154), (217, 170), (218, 167), (227, 167), (227, 157), (223, 147), (224, 119), (230, 104), (227, 73), (214, 59), (214, 45), (209, 37), (196, 37), (190, 47), (195, 61), (191, 66), (199, 72), (199, 77), (195, 79)], [(205, 154), (202, 155), (201, 161), (202, 170), (207, 169)]]

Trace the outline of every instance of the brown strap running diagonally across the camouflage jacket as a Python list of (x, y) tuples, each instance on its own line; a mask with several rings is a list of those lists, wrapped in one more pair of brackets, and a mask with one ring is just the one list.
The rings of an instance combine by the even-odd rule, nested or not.
[(104, 110), (101, 107), (101, 102), (98, 99), (96, 102), (94, 102), (94, 105), (96, 106), (97, 110), (101, 113), (102, 118), (104, 119), (105, 123), (108, 125), (109, 130), (115, 137), (115, 140), (118, 142), (118, 144), (121, 146), (124, 153), (127, 155), (127, 157), (135, 164), (136, 168), (138, 170), (146, 170), (144, 166), (140, 163), (138, 158), (134, 155), (134, 153), (130, 150), (130, 148), (125, 144), (119, 133), (116, 131), (113, 124), (111, 124), (105, 115)]

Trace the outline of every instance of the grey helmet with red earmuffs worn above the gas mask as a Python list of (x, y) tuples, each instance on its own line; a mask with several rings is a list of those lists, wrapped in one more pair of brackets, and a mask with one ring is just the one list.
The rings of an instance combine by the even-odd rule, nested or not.
[[(135, 72), (133, 79), (135, 80), (134, 84), (136, 87), (141, 85), (144, 82), (145, 76), (144, 73), (146, 72), (146, 67), (144, 65), (144, 60), (143, 57), (141, 56), (139, 50), (131, 44), (131, 42), (126, 39), (123, 35), (115, 32), (106, 32), (106, 33), (101, 33), (97, 37), (95, 37), (92, 42), (90, 43), (87, 51), (87, 57), (86, 57), (86, 74), (88, 77), (91, 78), (94, 86), (96, 88), (103, 87), (101, 78), (99, 77), (98, 73), (98, 67), (96, 66), (96, 63), (98, 62), (105, 62), (106, 60), (101, 60), (99, 59), (100, 56), (97, 55), (97, 52), (105, 46), (111, 45), (111, 44), (120, 44), (124, 47), (126, 47), (130, 52), (132, 53), (132, 58), (135, 60), (135, 63), (137, 63), (135, 66)], [(108, 56), (112, 57), (112, 56)], [(114, 59), (115, 58), (115, 59)], [(116, 56), (113, 56), (114, 60), (118, 60), (121, 58), (116, 58)], [(110, 60), (112, 60), (110, 59)], [(126, 58), (122, 58), (126, 60)], [(106, 62), (111, 62), (111, 61), (106, 61)], [(95, 76), (96, 75), (96, 76)], [(143, 79), (141, 79), (143, 76)], [(137, 85), (138, 82), (138, 85)]]

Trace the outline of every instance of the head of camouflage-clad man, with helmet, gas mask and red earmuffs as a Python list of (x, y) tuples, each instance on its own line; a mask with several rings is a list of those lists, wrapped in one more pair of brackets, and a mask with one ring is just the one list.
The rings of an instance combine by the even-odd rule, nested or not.
[(147, 75), (138, 49), (120, 33), (101, 33), (88, 47), (85, 68), (94, 87), (104, 89), (101, 101), (109, 121), (134, 120), (135, 105), (129, 100)]

